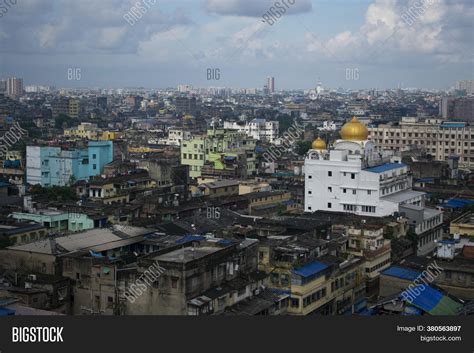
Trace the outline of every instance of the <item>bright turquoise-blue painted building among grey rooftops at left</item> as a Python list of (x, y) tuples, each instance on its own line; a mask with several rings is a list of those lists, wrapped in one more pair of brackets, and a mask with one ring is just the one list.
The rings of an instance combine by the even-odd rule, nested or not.
[(87, 148), (73, 150), (28, 146), (26, 180), (31, 185), (65, 186), (71, 177), (88, 180), (100, 175), (104, 166), (112, 160), (112, 141), (89, 141)]

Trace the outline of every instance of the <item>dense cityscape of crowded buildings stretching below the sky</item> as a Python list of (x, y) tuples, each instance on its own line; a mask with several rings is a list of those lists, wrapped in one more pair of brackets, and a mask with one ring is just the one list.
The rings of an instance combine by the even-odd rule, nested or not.
[(0, 315), (467, 315), (474, 81), (0, 81)]

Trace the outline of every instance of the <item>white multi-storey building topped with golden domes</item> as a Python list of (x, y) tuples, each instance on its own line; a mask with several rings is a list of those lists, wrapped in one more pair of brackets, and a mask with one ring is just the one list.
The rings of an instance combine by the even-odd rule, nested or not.
[(377, 150), (356, 118), (342, 127), (341, 137), (330, 149), (318, 138), (308, 152), (305, 211), (372, 217), (403, 213), (420, 238), (419, 253), (432, 251), (442, 236), (442, 213), (424, 207), (425, 193), (412, 190), (408, 166), (392, 151)]

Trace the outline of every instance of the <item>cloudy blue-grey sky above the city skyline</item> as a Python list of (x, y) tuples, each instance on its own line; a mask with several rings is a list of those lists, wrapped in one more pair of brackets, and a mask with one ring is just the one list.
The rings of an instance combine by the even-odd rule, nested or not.
[[(137, 2), (146, 13), (127, 22)], [(265, 22), (275, 2), (285, 14)], [(474, 78), (473, 0), (17, 0), (0, 16), (0, 77), (25, 84), (262, 87), (271, 75), (277, 89), (318, 78), (444, 89)]]

